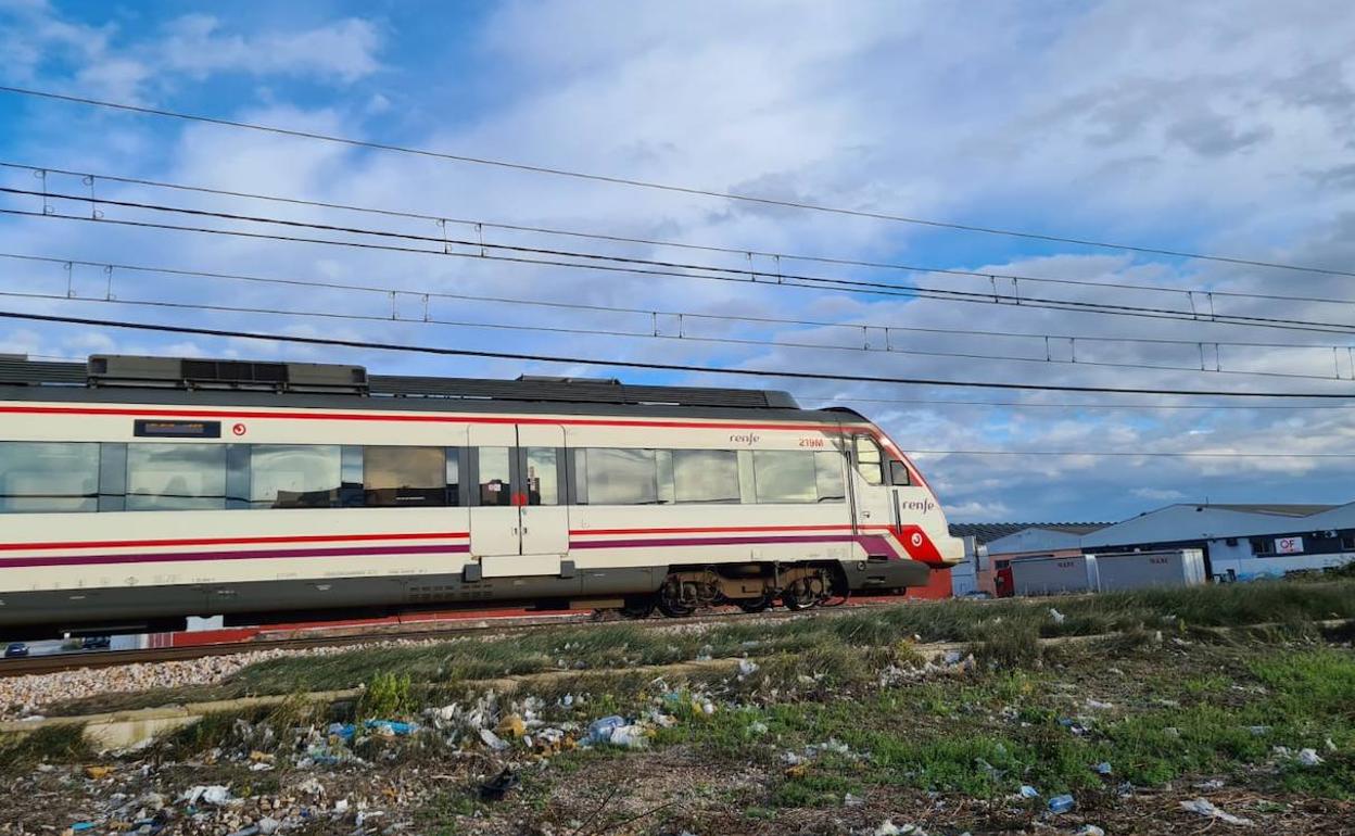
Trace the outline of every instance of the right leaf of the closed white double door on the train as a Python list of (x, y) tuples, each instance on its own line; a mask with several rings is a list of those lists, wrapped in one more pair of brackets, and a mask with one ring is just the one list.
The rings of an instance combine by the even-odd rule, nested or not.
[(569, 505), (565, 503), (565, 428), (519, 424), (518, 467), (522, 478), (523, 574), (558, 574), (569, 551)]

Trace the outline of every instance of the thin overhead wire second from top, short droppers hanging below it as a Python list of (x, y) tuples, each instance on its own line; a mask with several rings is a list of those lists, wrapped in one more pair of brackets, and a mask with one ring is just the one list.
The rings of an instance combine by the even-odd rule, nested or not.
[[(869, 260), (847, 259), (847, 257), (813, 256), (813, 255), (793, 253), (793, 252), (776, 252), (776, 251), (756, 249), (756, 248), (714, 247), (714, 245), (709, 245), (709, 244), (691, 244), (691, 243), (684, 243), (684, 241), (664, 241), (664, 240), (656, 240), (656, 238), (638, 238), (638, 237), (627, 237), (627, 236), (618, 236), (618, 234), (603, 234), (603, 233), (593, 233), (593, 232), (564, 230), (564, 229), (554, 229), (554, 228), (546, 228), (546, 226), (527, 226), (527, 225), (520, 225), (520, 224), (503, 224), (503, 222), (485, 221), (485, 220), (450, 218), (450, 217), (442, 217), (442, 215), (435, 215), (435, 214), (428, 214), (428, 213), (416, 213), (416, 211), (405, 211), (405, 210), (381, 209), (381, 207), (371, 207), (371, 206), (356, 206), (356, 205), (352, 205), (352, 203), (335, 203), (335, 202), (328, 202), (328, 201), (308, 201), (308, 199), (289, 198), (289, 196), (282, 196), (282, 195), (266, 195), (266, 194), (260, 194), (260, 192), (232, 191), (232, 190), (225, 190), (225, 188), (210, 188), (210, 187), (206, 187), (206, 186), (190, 186), (190, 184), (184, 184), (184, 183), (169, 183), (169, 182), (165, 182), (165, 180), (150, 180), (150, 179), (145, 179), (145, 177), (125, 177), (125, 176), (107, 175), (107, 173), (80, 172), (80, 171), (72, 171), (72, 169), (68, 169), (68, 168), (39, 167), (39, 165), (28, 165), (28, 164), (23, 164), (23, 163), (0, 161), (0, 168), (23, 169), (23, 171), (33, 172), (35, 175), (58, 173), (58, 175), (66, 175), (66, 176), (70, 176), (70, 177), (80, 177), (81, 182), (88, 183), (91, 186), (91, 188), (92, 188), (92, 186), (93, 186), (95, 182), (98, 182), (98, 180), (107, 180), (107, 182), (111, 182), (111, 183), (125, 183), (125, 184), (131, 184), (131, 186), (149, 186), (149, 187), (154, 187), (154, 188), (167, 188), (167, 190), (183, 191), (183, 192), (191, 192), (191, 194), (206, 194), (206, 195), (217, 195), (217, 196), (241, 198), (241, 199), (249, 199), (249, 201), (264, 201), (264, 202), (271, 202), (271, 203), (283, 203), (283, 205), (289, 205), (289, 206), (305, 206), (305, 207), (310, 207), (310, 209), (332, 209), (332, 210), (343, 210), (343, 211), (352, 211), (352, 213), (362, 213), (362, 214), (373, 214), (373, 215), (381, 215), (381, 217), (416, 220), (416, 221), (425, 221), (425, 222), (431, 222), (431, 224), (438, 224), (440, 226), (444, 226), (447, 224), (454, 224), (454, 225), (459, 225), (459, 226), (466, 226), (467, 229), (477, 229), (477, 230), (501, 229), (501, 230), (509, 230), (509, 232), (530, 232), (530, 233), (538, 233), (538, 234), (565, 236), (565, 237), (575, 237), (575, 238), (588, 238), (588, 240), (598, 240), (598, 241), (608, 241), (608, 243), (615, 243), (615, 244), (641, 244), (641, 245), (646, 245), (646, 247), (665, 247), (665, 248), (690, 249), (690, 251), (698, 251), (698, 252), (718, 252), (718, 253), (733, 255), (733, 256), (740, 256), (740, 257), (757, 256), (757, 257), (763, 257), (763, 259), (774, 259), (776, 262), (786, 260), (786, 262), (806, 262), (806, 263), (817, 263), (817, 264), (832, 264), (832, 266), (839, 266), (839, 267), (867, 267), (867, 268), (873, 268), (873, 270), (893, 270), (893, 271), (913, 272), (913, 274), (955, 275), (955, 276), (966, 276), (966, 278), (974, 278), (974, 279), (1000, 279), (1003, 282), (1014, 282), (1015, 280), (1015, 282), (1027, 282), (1027, 283), (1064, 285), (1064, 286), (1075, 286), (1075, 287), (1098, 287), (1098, 289), (1115, 289), (1115, 290), (1142, 290), (1142, 291), (1149, 291), (1149, 293), (1169, 293), (1169, 294), (1186, 294), (1186, 295), (1194, 294), (1194, 295), (1201, 297), (1202, 299), (1206, 298), (1206, 297), (1218, 297), (1218, 298), (1267, 299), (1267, 301), (1286, 301), (1286, 302), (1314, 302), (1314, 304), (1333, 304), (1333, 305), (1350, 305), (1350, 306), (1355, 306), (1355, 299), (1340, 299), (1340, 298), (1332, 298), (1332, 297), (1312, 297), (1312, 295), (1275, 294), (1275, 293), (1253, 293), (1253, 291), (1238, 291), (1238, 290), (1214, 290), (1214, 289), (1203, 289), (1203, 287), (1179, 287), (1179, 286), (1172, 286), (1172, 285), (1137, 285), (1137, 283), (1129, 283), (1129, 282), (1092, 282), (1092, 280), (1087, 280), (1087, 279), (1065, 279), (1065, 278), (1056, 279), (1056, 278), (1050, 278), (1050, 276), (1033, 276), (1033, 275), (1012, 274), (1012, 272), (1007, 272), (1007, 271), (995, 271), (995, 270), (986, 270), (986, 271), (984, 271), (984, 270), (959, 270), (959, 268), (955, 268), (955, 267), (925, 267), (925, 266), (917, 266), (917, 264), (901, 264), (901, 263), (897, 263), (897, 262), (869, 262)], [(28, 194), (38, 194), (38, 192), (30, 191)], [(54, 195), (54, 194), (50, 194), (50, 192), (42, 192), (42, 194), (47, 194), (49, 196), (58, 196), (58, 195)], [(104, 202), (104, 201), (93, 199), (92, 195), (91, 195), (91, 202), (92, 203), (100, 203), (100, 202)], [(108, 201), (108, 202), (112, 203), (112, 201)], [(444, 238), (434, 238), (434, 240), (444, 240)], [(485, 243), (480, 241), (480, 244), (484, 245)], [(492, 244), (489, 244), (489, 245), (492, 247)], [(775, 275), (775, 274), (771, 274), (768, 271), (759, 271), (759, 272), (763, 272), (763, 274), (767, 274), (767, 275)]]

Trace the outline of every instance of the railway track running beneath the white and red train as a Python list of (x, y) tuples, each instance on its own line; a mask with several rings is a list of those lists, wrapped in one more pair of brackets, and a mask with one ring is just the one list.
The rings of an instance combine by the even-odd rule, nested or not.
[[(637, 627), (676, 627), (687, 625), (722, 623), (728, 621), (789, 621), (795, 618), (817, 618), (832, 612), (847, 610), (860, 610), (863, 607), (897, 606), (902, 599), (860, 599), (852, 600), (843, 607), (824, 607), (814, 610), (770, 610), (766, 612), (706, 612), (684, 618), (646, 618), (635, 621), (599, 619), (591, 614), (541, 615), (524, 618), (486, 618), (473, 623), (455, 622), (454, 625), (364, 633), (325, 633), (316, 635), (289, 635), (279, 638), (252, 638), (248, 641), (222, 642), (213, 645), (190, 645), (183, 648), (144, 648), (136, 650), (92, 650), (84, 653), (51, 653), (45, 656), (28, 656), (22, 659), (0, 660), (0, 679), (12, 676), (27, 676), (35, 673), (56, 673), (60, 671), (75, 671), (81, 668), (112, 668), (118, 665), (182, 661), (205, 659), (210, 656), (234, 656), (237, 653), (253, 653), (257, 650), (308, 650), (312, 648), (344, 648), (378, 645), (397, 641), (423, 640), (450, 640), (465, 635), (514, 635), (520, 633), (535, 633), (551, 627), (593, 627), (603, 625), (634, 625)], [(470, 621), (470, 619), (467, 619)], [(495, 623), (496, 621), (512, 623)]]

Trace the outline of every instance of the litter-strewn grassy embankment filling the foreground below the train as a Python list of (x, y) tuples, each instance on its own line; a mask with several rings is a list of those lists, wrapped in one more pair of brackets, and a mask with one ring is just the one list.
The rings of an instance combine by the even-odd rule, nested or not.
[[(1352, 618), (1352, 581), (1267, 583), (279, 656), (199, 686), (179, 699), (194, 722), (130, 749), (99, 752), (88, 718), (11, 736), (8, 797), (50, 803), (0, 818), (9, 832), (1335, 833), (1355, 814)], [(165, 711), (173, 696), (49, 709)], [(199, 698), (228, 702), (184, 705)], [(1051, 812), (1061, 795), (1072, 809)]]

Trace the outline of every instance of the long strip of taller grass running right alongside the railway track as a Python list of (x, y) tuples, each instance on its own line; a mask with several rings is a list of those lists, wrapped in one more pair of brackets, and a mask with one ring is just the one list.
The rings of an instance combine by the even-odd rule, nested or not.
[[(1057, 608), (1062, 621), (1050, 610)], [(1196, 629), (1240, 625), (1293, 625), (1310, 630), (1318, 619), (1355, 618), (1355, 580), (1256, 581), (1191, 589), (1156, 589), (1081, 598), (946, 600), (901, 604), (829, 618), (749, 622), (703, 633), (672, 634), (633, 623), (530, 633), (496, 641), (459, 640), (434, 645), (381, 646), (328, 656), (280, 657), (249, 665), (220, 686), (176, 694), (183, 701), (229, 699), (249, 694), (287, 694), (351, 688), (388, 675), (408, 676), (411, 687), (558, 669), (625, 669), (710, 656), (791, 654), (802, 657), (840, 648), (888, 648), (908, 641), (973, 645), (984, 661), (1031, 664), (1038, 638), (1126, 631), (1148, 641), (1157, 631), (1191, 634)], [(80, 701), (51, 713), (133, 709), (163, 705), (165, 694)]]

